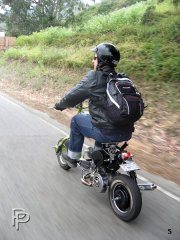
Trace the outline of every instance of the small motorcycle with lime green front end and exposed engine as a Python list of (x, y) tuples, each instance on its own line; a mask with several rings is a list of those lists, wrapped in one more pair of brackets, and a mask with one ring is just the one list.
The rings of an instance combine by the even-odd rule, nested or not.
[[(85, 108), (77, 106), (80, 114)], [(58, 163), (64, 170), (70, 167), (63, 158), (63, 151), (67, 151), (70, 136), (62, 138), (55, 146)], [(108, 190), (110, 205), (114, 213), (123, 221), (132, 221), (140, 213), (142, 197), (140, 190), (154, 190), (154, 184), (138, 184), (136, 170), (139, 166), (133, 161), (125, 142), (102, 143), (102, 149), (94, 151), (92, 147), (85, 150), (83, 158), (77, 163), (82, 168), (81, 182), (93, 187), (95, 191), (104, 193)]]

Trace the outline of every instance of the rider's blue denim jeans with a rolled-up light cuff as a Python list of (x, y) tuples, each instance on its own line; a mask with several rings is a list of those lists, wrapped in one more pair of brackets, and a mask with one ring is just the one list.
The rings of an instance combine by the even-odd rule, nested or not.
[(101, 131), (92, 125), (91, 116), (87, 114), (75, 115), (71, 120), (70, 142), (68, 147), (68, 156), (72, 159), (81, 157), (81, 151), (84, 143), (84, 137), (95, 140), (95, 147), (101, 147), (105, 142), (128, 141), (132, 133), (121, 135), (103, 135)]

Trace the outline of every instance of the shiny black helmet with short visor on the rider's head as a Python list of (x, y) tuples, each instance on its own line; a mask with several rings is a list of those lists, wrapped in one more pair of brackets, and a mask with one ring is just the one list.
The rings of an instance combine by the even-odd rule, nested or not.
[(97, 67), (103, 67), (105, 65), (116, 67), (120, 60), (119, 50), (111, 43), (100, 43), (95, 48), (91, 49), (91, 51), (97, 53)]

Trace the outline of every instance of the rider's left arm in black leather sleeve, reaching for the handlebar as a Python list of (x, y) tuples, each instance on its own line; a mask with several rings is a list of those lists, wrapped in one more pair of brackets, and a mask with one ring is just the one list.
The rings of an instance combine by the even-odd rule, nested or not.
[(58, 110), (74, 107), (78, 103), (83, 102), (90, 96), (89, 90), (93, 87), (96, 79), (96, 72), (90, 71), (84, 79), (77, 84), (73, 89), (64, 95), (64, 97), (56, 103), (55, 107)]

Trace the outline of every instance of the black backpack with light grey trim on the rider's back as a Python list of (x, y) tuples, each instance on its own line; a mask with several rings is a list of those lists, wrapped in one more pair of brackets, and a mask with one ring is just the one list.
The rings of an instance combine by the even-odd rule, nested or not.
[(109, 122), (116, 127), (133, 125), (143, 115), (141, 94), (124, 73), (110, 73), (107, 81), (105, 113)]

